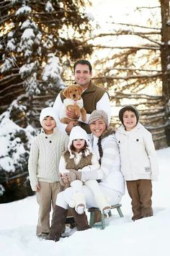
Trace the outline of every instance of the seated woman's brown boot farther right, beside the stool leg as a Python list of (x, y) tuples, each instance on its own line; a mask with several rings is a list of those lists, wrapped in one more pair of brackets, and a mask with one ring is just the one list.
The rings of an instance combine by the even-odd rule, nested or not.
[(73, 214), (73, 218), (76, 222), (76, 227), (78, 231), (91, 229), (86, 217), (86, 213), (79, 214), (76, 212), (75, 208), (71, 208), (71, 213)]

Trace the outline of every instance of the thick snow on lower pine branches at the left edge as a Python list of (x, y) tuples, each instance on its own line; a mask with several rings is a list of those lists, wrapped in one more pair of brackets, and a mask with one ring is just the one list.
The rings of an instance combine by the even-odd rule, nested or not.
[(22, 140), (18, 136), (15, 137), (15, 135), (19, 132), (24, 132), (29, 141), (34, 137), (33, 127), (21, 128), (9, 119), (12, 106), (24, 111), (23, 106), (18, 106), (17, 101), (13, 101), (9, 109), (0, 115), (0, 145), (3, 145), (0, 147), (0, 168), (5, 171), (15, 171), (16, 166), (21, 164), (24, 153), (27, 153)]

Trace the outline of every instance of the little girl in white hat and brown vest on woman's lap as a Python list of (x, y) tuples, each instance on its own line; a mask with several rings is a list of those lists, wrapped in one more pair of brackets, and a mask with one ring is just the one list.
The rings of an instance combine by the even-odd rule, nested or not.
[[(97, 161), (96, 156), (92, 153), (85, 130), (79, 126), (73, 127), (68, 142), (68, 150), (63, 153), (59, 164), (61, 174), (64, 175), (69, 173), (69, 169), (74, 169), (76, 171), (94, 171), (99, 168), (99, 161)], [(71, 173), (73, 174), (73, 172)], [(99, 209), (104, 213), (108, 213), (110, 205), (104, 195), (102, 195), (99, 183), (96, 180), (88, 180), (84, 183), (80, 180), (71, 182), (70, 185), (73, 187), (73, 198), (69, 202), (69, 206), (75, 208), (76, 212), (79, 214), (84, 213), (86, 200), (84, 193), (81, 192), (83, 184), (86, 184), (86, 186), (93, 192), (94, 199), (97, 202)]]

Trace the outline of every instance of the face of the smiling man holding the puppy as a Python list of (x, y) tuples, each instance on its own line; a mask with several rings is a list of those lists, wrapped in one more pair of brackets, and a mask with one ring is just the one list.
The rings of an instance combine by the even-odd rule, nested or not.
[(75, 81), (78, 85), (81, 85), (84, 89), (89, 87), (92, 72), (89, 70), (89, 66), (86, 64), (77, 64), (74, 72)]

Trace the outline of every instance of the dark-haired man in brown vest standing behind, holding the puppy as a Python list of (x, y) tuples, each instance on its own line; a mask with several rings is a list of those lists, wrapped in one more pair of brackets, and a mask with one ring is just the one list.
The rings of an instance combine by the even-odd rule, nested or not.
[[(84, 108), (86, 109), (87, 119), (86, 123), (82, 122), (79, 116), (76, 116), (74, 111), (67, 111), (68, 118), (76, 119), (79, 118), (79, 124), (83, 129), (86, 130), (87, 133), (90, 133), (88, 121), (89, 116), (92, 111), (95, 109), (97, 110), (104, 110), (107, 115), (111, 116), (111, 107), (109, 103), (109, 95), (103, 88), (99, 88), (97, 85), (94, 85), (94, 82), (91, 81), (92, 77), (92, 67), (89, 61), (85, 59), (80, 59), (75, 62), (73, 65), (73, 72), (75, 81), (77, 84), (81, 85), (84, 89), (81, 97), (84, 101)], [(58, 94), (58, 97), (55, 99), (55, 103), (53, 108), (60, 119), (61, 108), (63, 106), (64, 96), (62, 93)], [(69, 124), (60, 124), (60, 128), (62, 131), (67, 132), (68, 134), (71, 132), (73, 126), (77, 123), (77, 121), (71, 121)]]

